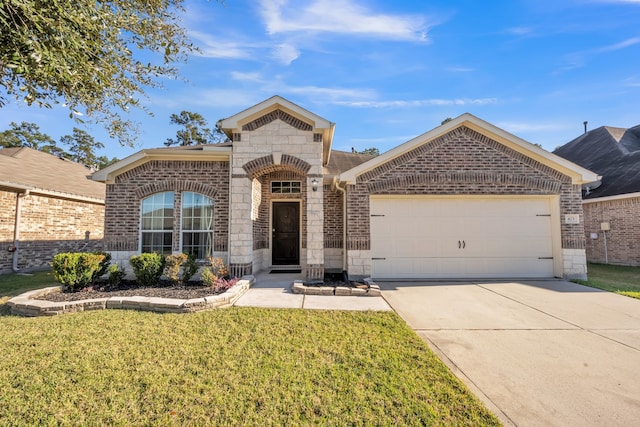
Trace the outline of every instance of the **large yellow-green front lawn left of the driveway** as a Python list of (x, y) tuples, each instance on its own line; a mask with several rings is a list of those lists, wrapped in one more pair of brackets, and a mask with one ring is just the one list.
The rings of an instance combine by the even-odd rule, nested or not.
[(393, 312), (0, 317), (6, 425), (498, 425)]

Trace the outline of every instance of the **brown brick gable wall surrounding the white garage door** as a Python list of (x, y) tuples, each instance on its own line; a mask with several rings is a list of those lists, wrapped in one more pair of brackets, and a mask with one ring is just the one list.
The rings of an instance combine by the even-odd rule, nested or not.
[[(582, 218), (579, 185), (490, 138), (458, 128), (347, 186), (349, 273), (370, 274), (369, 195), (560, 195), (560, 213)], [(584, 250), (583, 222), (561, 225), (563, 249)], [(353, 267), (353, 268), (352, 268)]]

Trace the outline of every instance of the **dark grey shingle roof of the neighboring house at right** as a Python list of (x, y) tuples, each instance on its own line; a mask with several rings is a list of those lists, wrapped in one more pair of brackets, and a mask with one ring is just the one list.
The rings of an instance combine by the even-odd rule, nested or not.
[(554, 154), (602, 175), (601, 185), (590, 188), (585, 199), (640, 192), (640, 125), (593, 129)]

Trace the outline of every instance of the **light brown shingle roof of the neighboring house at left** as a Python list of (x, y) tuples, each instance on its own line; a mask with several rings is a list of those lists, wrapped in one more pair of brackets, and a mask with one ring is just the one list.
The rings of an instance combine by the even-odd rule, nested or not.
[(85, 166), (28, 147), (0, 149), (0, 187), (104, 202), (105, 185)]

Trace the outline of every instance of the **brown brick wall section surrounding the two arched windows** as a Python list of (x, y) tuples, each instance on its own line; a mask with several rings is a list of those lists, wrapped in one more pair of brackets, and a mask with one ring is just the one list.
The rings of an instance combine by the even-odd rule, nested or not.
[(214, 203), (215, 252), (227, 250), (229, 162), (154, 160), (118, 175), (107, 184), (105, 248), (139, 249), (140, 202), (152, 194), (174, 192), (173, 250), (180, 250), (180, 203), (184, 191), (204, 194)]

